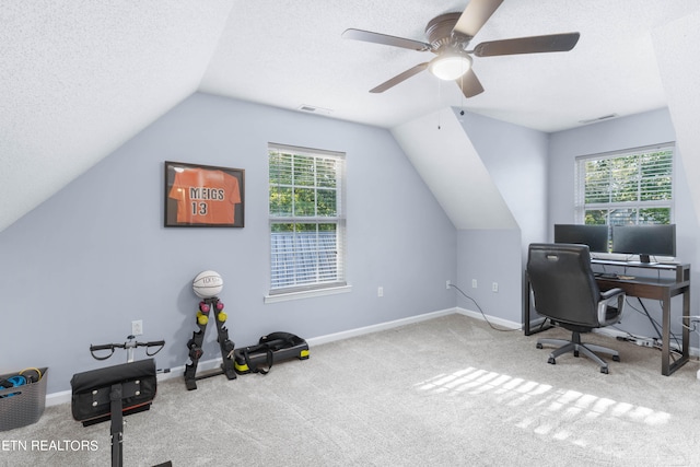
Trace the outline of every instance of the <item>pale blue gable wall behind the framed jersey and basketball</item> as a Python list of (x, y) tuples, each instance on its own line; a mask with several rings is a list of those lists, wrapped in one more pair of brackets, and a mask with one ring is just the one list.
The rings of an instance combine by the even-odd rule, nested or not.
[[(347, 153), (350, 293), (264, 304), (268, 142)], [(165, 160), (244, 168), (245, 227), (163, 227)], [(454, 226), (387, 130), (195, 94), (0, 233), (0, 373), (48, 366), (48, 392), (69, 389), (74, 373), (104, 365), (90, 345), (125, 341), (133, 319), (139, 340), (165, 339), (158, 367), (184, 365), (191, 280), (205, 269), (224, 279), (237, 346), (453, 308), (456, 250)], [(202, 360), (220, 357), (214, 339), (208, 329)]]

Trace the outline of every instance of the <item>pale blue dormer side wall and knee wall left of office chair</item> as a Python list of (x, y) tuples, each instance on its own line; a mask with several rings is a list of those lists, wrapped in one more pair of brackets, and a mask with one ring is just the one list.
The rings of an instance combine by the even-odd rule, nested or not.
[[(459, 119), (518, 227), (459, 231), (458, 285), (485, 314), (517, 325), (527, 245), (541, 242), (547, 232), (549, 136), (471, 113)], [(498, 292), (491, 289), (493, 282), (499, 284)], [(476, 311), (464, 296), (457, 304)]]

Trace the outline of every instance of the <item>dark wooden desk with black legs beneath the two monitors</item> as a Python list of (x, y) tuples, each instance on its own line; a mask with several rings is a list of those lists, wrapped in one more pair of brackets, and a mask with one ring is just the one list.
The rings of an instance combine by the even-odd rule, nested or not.
[[(637, 277), (633, 279), (619, 279), (609, 277), (596, 277), (596, 282), (600, 290), (619, 288), (629, 296), (638, 296), (640, 299), (658, 300), (662, 303), (662, 362), (661, 373), (665, 376), (682, 366), (690, 358), (690, 265), (644, 265), (628, 264), (622, 261), (605, 261), (594, 259), (591, 261), (594, 271), (599, 268), (615, 267), (626, 268), (625, 276), (634, 276), (629, 272), (630, 268), (638, 268), (640, 273), (653, 272), (657, 277)], [(526, 275), (527, 276), (527, 275)], [(525, 288), (526, 303), (523, 306), (524, 313), (524, 331), (526, 336), (538, 332), (533, 330), (530, 325), (530, 288), (529, 281)], [(680, 343), (680, 357), (673, 358), (670, 352), (670, 299), (682, 294), (682, 338)], [(540, 329), (544, 330), (544, 329)]]

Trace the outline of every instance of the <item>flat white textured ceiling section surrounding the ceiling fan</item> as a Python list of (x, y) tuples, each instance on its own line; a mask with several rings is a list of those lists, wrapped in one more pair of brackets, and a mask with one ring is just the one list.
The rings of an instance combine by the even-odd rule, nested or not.
[(387, 128), (445, 106), (542, 131), (666, 105), (650, 31), (699, 8), (697, 0), (505, 0), (470, 46), (578, 31), (570, 52), (475, 58), (485, 92), (465, 100), (429, 72), (383, 94), (368, 91), (430, 52), (343, 39), (348, 27), (424, 40), (454, 0), (236, 2), (200, 90)]

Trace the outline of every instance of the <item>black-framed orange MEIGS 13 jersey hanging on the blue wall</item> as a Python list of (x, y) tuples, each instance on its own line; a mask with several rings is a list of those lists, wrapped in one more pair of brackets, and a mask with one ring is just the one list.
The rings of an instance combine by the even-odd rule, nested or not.
[(245, 171), (165, 161), (166, 227), (243, 227)]

